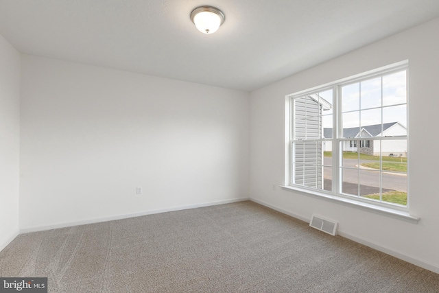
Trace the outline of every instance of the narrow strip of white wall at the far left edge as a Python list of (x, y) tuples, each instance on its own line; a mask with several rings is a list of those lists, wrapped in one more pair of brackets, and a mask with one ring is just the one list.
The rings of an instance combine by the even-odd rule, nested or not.
[(20, 54), (0, 35), (0, 250), (19, 233)]

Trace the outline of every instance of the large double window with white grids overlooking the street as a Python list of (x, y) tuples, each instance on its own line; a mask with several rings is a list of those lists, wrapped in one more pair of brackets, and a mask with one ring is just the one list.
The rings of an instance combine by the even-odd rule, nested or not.
[(287, 97), (290, 187), (407, 209), (406, 63)]

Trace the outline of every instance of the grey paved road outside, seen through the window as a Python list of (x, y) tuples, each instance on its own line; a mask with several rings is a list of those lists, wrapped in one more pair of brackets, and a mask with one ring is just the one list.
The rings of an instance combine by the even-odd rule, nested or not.
[[(360, 160), (359, 163), (368, 163), (373, 161)], [(324, 157), (324, 163), (326, 165), (331, 164), (331, 158)], [(355, 159), (344, 159), (343, 167), (356, 167), (358, 161)], [(407, 192), (407, 176), (401, 176), (399, 174), (390, 174), (383, 172), (383, 190), (398, 190)], [(329, 189), (328, 185), (332, 178), (331, 168), (324, 168), (324, 189)], [(343, 189), (344, 191), (350, 191), (349, 194), (357, 194), (357, 185), (360, 183), (361, 195), (373, 194), (379, 191), (379, 172), (373, 170), (360, 169), (360, 182), (358, 182), (357, 170), (346, 169), (343, 174)]]

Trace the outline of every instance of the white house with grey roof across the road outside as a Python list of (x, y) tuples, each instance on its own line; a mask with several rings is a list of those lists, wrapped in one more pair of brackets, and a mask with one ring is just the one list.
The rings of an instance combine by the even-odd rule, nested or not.
[[(332, 128), (324, 128), (324, 137), (332, 137)], [(344, 128), (343, 137), (358, 138), (361, 140), (351, 140), (343, 142), (343, 150), (345, 152), (361, 152), (362, 154), (370, 154), (379, 156), (380, 145), (375, 143), (373, 139), (365, 139), (367, 137), (386, 137), (386, 136), (405, 136), (407, 135), (407, 128), (399, 122), (391, 122), (369, 126)], [(332, 145), (324, 145), (324, 151), (331, 152)], [(405, 140), (392, 140), (383, 142), (382, 152), (383, 156), (407, 156), (407, 143)]]

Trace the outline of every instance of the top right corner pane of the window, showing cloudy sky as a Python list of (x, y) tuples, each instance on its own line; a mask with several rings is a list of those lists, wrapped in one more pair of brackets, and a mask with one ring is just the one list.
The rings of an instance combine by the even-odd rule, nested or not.
[(383, 76), (383, 106), (407, 103), (407, 71)]

